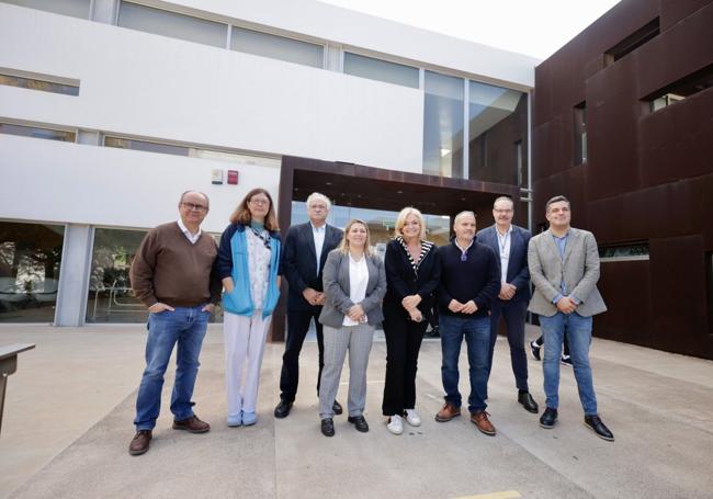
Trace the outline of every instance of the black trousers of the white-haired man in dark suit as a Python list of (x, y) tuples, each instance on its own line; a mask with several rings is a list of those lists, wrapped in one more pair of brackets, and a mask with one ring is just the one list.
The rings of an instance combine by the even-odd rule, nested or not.
[(319, 324), (319, 309), (312, 310), (287, 310), (287, 341), (285, 353), (282, 355), (282, 372), (280, 374), (280, 398), (286, 401), (294, 401), (297, 395), (299, 383), (299, 352), (309, 330), (309, 322), (315, 319), (317, 329), (317, 347), (319, 348), (319, 372), (317, 373), (317, 396), (319, 396), (319, 379), (321, 370), (325, 366), (325, 337)]

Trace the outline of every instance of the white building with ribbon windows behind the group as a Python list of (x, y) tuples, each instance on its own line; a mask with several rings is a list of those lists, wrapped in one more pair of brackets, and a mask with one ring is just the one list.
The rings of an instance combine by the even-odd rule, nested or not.
[[(0, 0), (0, 322), (143, 320), (133, 251), (189, 189), (215, 235), (256, 186), (283, 229), (306, 188), (384, 235), (415, 185), (527, 213), (537, 63), (314, 1)], [(285, 188), (285, 158), (315, 162)], [(406, 197), (329, 192), (321, 165)], [(437, 239), (454, 209), (422, 209)]]

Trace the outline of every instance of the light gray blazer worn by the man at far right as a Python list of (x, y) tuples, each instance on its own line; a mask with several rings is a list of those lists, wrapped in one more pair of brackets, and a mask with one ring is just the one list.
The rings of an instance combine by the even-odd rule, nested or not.
[(563, 279), (569, 294), (581, 300), (577, 314), (590, 317), (607, 310), (597, 290), (599, 250), (593, 234), (570, 228), (563, 261), (552, 233), (545, 230), (530, 239), (528, 266), (534, 284), (528, 310), (545, 317), (557, 314), (557, 307), (552, 300), (559, 294)]

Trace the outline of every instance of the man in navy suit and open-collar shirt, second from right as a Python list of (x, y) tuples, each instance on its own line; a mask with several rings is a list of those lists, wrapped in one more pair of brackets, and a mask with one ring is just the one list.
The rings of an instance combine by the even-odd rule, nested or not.
[(528, 271), (529, 230), (512, 225), (514, 204), (510, 197), (501, 196), (493, 205), (495, 224), (479, 230), (478, 242), (488, 246), (498, 257), (500, 270), (500, 293), (490, 308), (490, 362), (498, 337), (500, 318), (505, 319), (510, 344), (510, 361), (518, 388), (518, 401), (530, 412), (536, 413), (537, 404), (528, 388), (528, 358), (524, 351), (524, 320), (530, 300), (530, 272)]

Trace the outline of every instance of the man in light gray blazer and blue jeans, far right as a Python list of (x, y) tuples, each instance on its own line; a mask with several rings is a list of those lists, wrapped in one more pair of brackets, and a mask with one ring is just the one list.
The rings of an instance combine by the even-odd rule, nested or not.
[(542, 428), (554, 428), (559, 405), (559, 356), (565, 331), (569, 354), (585, 409), (585, 426), (598, 436), (614, 435), (597, 413), (597, 396), (589, 365), (592, 316), (607, 310), (597, 290), (599, 250), (595, 236), (571, 227), (569, 200), (555, 196), (545, 205), (550, 229), (530, 239), (528, 266), (534, 284), (529, 310), (540, 316), (544, 336), (544, 390), (546, 405), (540, 418)]

